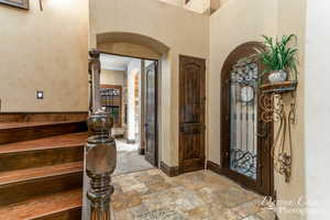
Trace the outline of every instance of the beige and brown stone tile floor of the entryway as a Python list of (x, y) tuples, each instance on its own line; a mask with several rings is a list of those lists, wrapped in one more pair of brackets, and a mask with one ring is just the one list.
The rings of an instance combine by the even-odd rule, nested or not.
[(274, 220), (261, 196), (210, 170), (167, 177), (150, 169), (113, 177), (114, 220)]

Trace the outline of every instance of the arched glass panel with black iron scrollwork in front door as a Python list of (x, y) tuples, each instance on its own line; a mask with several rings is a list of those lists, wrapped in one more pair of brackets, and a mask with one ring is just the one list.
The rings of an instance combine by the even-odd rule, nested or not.
[(230, 80), (230, 169), (256, 179), (257, 65), (240, 59)]

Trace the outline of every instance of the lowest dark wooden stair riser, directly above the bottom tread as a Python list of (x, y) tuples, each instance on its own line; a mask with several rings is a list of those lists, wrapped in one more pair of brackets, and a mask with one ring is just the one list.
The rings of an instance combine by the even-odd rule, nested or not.
[(0, 186), (0, 206), (31, 197), (69, 190), (82, 186), (82, 172), (63, 174)]

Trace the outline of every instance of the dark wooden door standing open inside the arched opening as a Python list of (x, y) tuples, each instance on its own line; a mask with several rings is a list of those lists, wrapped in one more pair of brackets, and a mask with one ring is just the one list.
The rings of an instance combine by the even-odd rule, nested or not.
[(157, 62), (145, 68), (145, 158), (152, 165), (158, 165)]

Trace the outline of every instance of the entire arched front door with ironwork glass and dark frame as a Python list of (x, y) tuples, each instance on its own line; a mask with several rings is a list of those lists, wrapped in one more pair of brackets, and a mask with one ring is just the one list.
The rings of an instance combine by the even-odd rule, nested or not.
[(271, 146), (273, 124), (260, 118), (258, 73), (253, 56), (262, 44), (238, 46), (221, 70), (221, 163), (233, 180), (264, 195), (273, 195)]

